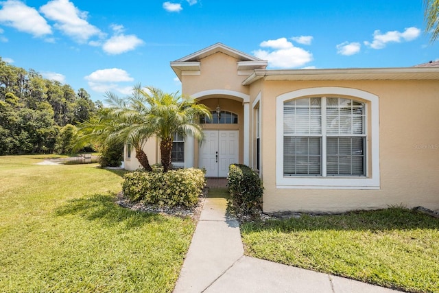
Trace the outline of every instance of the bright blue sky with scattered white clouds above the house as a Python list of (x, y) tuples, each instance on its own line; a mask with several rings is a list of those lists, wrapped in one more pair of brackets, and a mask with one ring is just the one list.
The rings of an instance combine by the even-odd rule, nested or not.
[(439, 59), (423, 0), (0, 0), (0, 57), (86, 89), (180, 91), (169, 62), (215, 43), (269, 69), (410, 67)]

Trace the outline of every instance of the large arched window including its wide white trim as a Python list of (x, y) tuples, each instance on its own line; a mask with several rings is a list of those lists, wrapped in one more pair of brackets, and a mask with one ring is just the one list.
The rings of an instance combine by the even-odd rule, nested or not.
[(276, 111), (279, 187), (379, 187), (377, 96), (304, 89), (277, 97)]

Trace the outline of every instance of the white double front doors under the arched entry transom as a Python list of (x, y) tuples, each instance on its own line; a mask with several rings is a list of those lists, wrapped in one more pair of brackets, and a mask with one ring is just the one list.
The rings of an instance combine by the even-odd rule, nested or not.
[(205, 130), (199, 154), (206, 177), (227, 177), (228, 166), (238, 163), (238, 130)]

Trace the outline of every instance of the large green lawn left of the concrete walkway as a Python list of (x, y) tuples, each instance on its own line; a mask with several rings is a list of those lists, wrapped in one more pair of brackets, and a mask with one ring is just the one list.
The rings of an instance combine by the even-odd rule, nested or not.
[(171, 292), (195, 222), (114, 203), (121, 171), (0, 156), (0, 292)]

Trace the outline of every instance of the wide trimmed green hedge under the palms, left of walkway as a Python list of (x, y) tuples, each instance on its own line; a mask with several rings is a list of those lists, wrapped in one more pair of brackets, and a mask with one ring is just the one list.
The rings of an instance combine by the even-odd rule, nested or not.
[(134, 171), (123, 176), (123, 194), (132, 201), (167, 207), (193, 207), (206, 185), (201, 169)]

